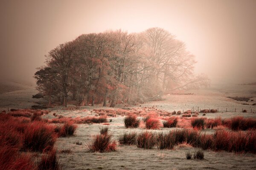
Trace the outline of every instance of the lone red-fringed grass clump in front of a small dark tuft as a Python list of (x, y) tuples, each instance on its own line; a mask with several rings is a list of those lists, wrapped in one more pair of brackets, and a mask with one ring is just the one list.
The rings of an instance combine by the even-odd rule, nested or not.
[(116, 150), (116, 142), (111, 140), (111, 135), (95, 135), (93, 140), (87, 143), (91, 152), (112, 152)]

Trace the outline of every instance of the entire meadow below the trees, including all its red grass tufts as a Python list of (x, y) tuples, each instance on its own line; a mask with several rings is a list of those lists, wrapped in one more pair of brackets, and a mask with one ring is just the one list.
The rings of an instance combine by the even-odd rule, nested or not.
[[(170, 94), (164, 98), (117, 108), (70, 104), (67, 108), (2, 111), (1, 167), (24, 170), (256, 168), (256, 113), (249, 112), (256, 108), (253, 101), (244, 105), (246, 101), (216, 93)], [(201, 112), (192, 112), (192, 107), (200, 107)], [(237, 108), (237, 111), (226, 112), (226, 108)]]

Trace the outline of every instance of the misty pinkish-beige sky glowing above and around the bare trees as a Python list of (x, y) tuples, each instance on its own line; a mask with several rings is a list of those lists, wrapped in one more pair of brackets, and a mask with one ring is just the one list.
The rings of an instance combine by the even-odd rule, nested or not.
[(81, 34), (161, 27), (212, 80), (256, 81), (256, 0), (1, 0), (0, 78), (34, 81), (51, 49)]

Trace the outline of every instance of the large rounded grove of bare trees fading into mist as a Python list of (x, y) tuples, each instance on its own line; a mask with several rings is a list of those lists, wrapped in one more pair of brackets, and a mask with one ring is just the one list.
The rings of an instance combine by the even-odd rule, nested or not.
[(195, 57), (185, 44), (161, 28), (142, 33), (84, 34), (51, 50), (47, 66), (35, 73), (37, 89), (67, 106), (143, 102), (174, 90), (207, 86), (194, 75)]

